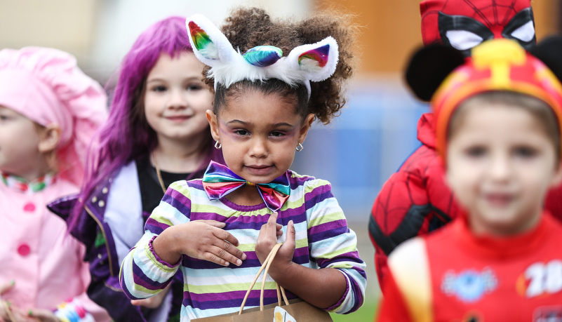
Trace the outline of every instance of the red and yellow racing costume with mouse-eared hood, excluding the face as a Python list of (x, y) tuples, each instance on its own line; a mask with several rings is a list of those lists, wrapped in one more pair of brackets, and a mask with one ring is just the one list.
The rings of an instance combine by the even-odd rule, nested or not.
[[(431, 95), (439, 159), (446, 159), (447, 133), (455, 109), (467, 98), (490, 91), (542, 100), (558, 123), (556, 134), (560, 137), (562, 64), (557, 53), (561, 50), (562, 37), (558, 36), (543, 41), (530, 53), (513, 41), (486, 41), (464, 62), (459, 52), (445, 47), (416, 53), (406, 79), (418, 97)], [(448, 60), (450, 55), (455, 58)], [(435, 57), (439, 59), (431, 64)], [(446, 71), (457, 62), (461, 64), (448, 74)], [(434, 93), (433, 87), (427, 86), (428, 63), (434, 74), (444, 79)], [(486, 109), (487, 105), (483, 106)], [(553, 137), (550, 140), (554, 142)], [(491, 228), (493, 224), (488, 226), (489, 231), (475, 232), (470, 224), (474, 213), (457, 211), (455, 216), (457, 219), (446, 227), (411, 239), (390, 255), (378, 322), (561, 321), (560, 222), (548, 211), (539, 215), (533, 209), (524, 215), (525, 221), (509, 223), (511, 229), (522, 231), (503, 235)]]

